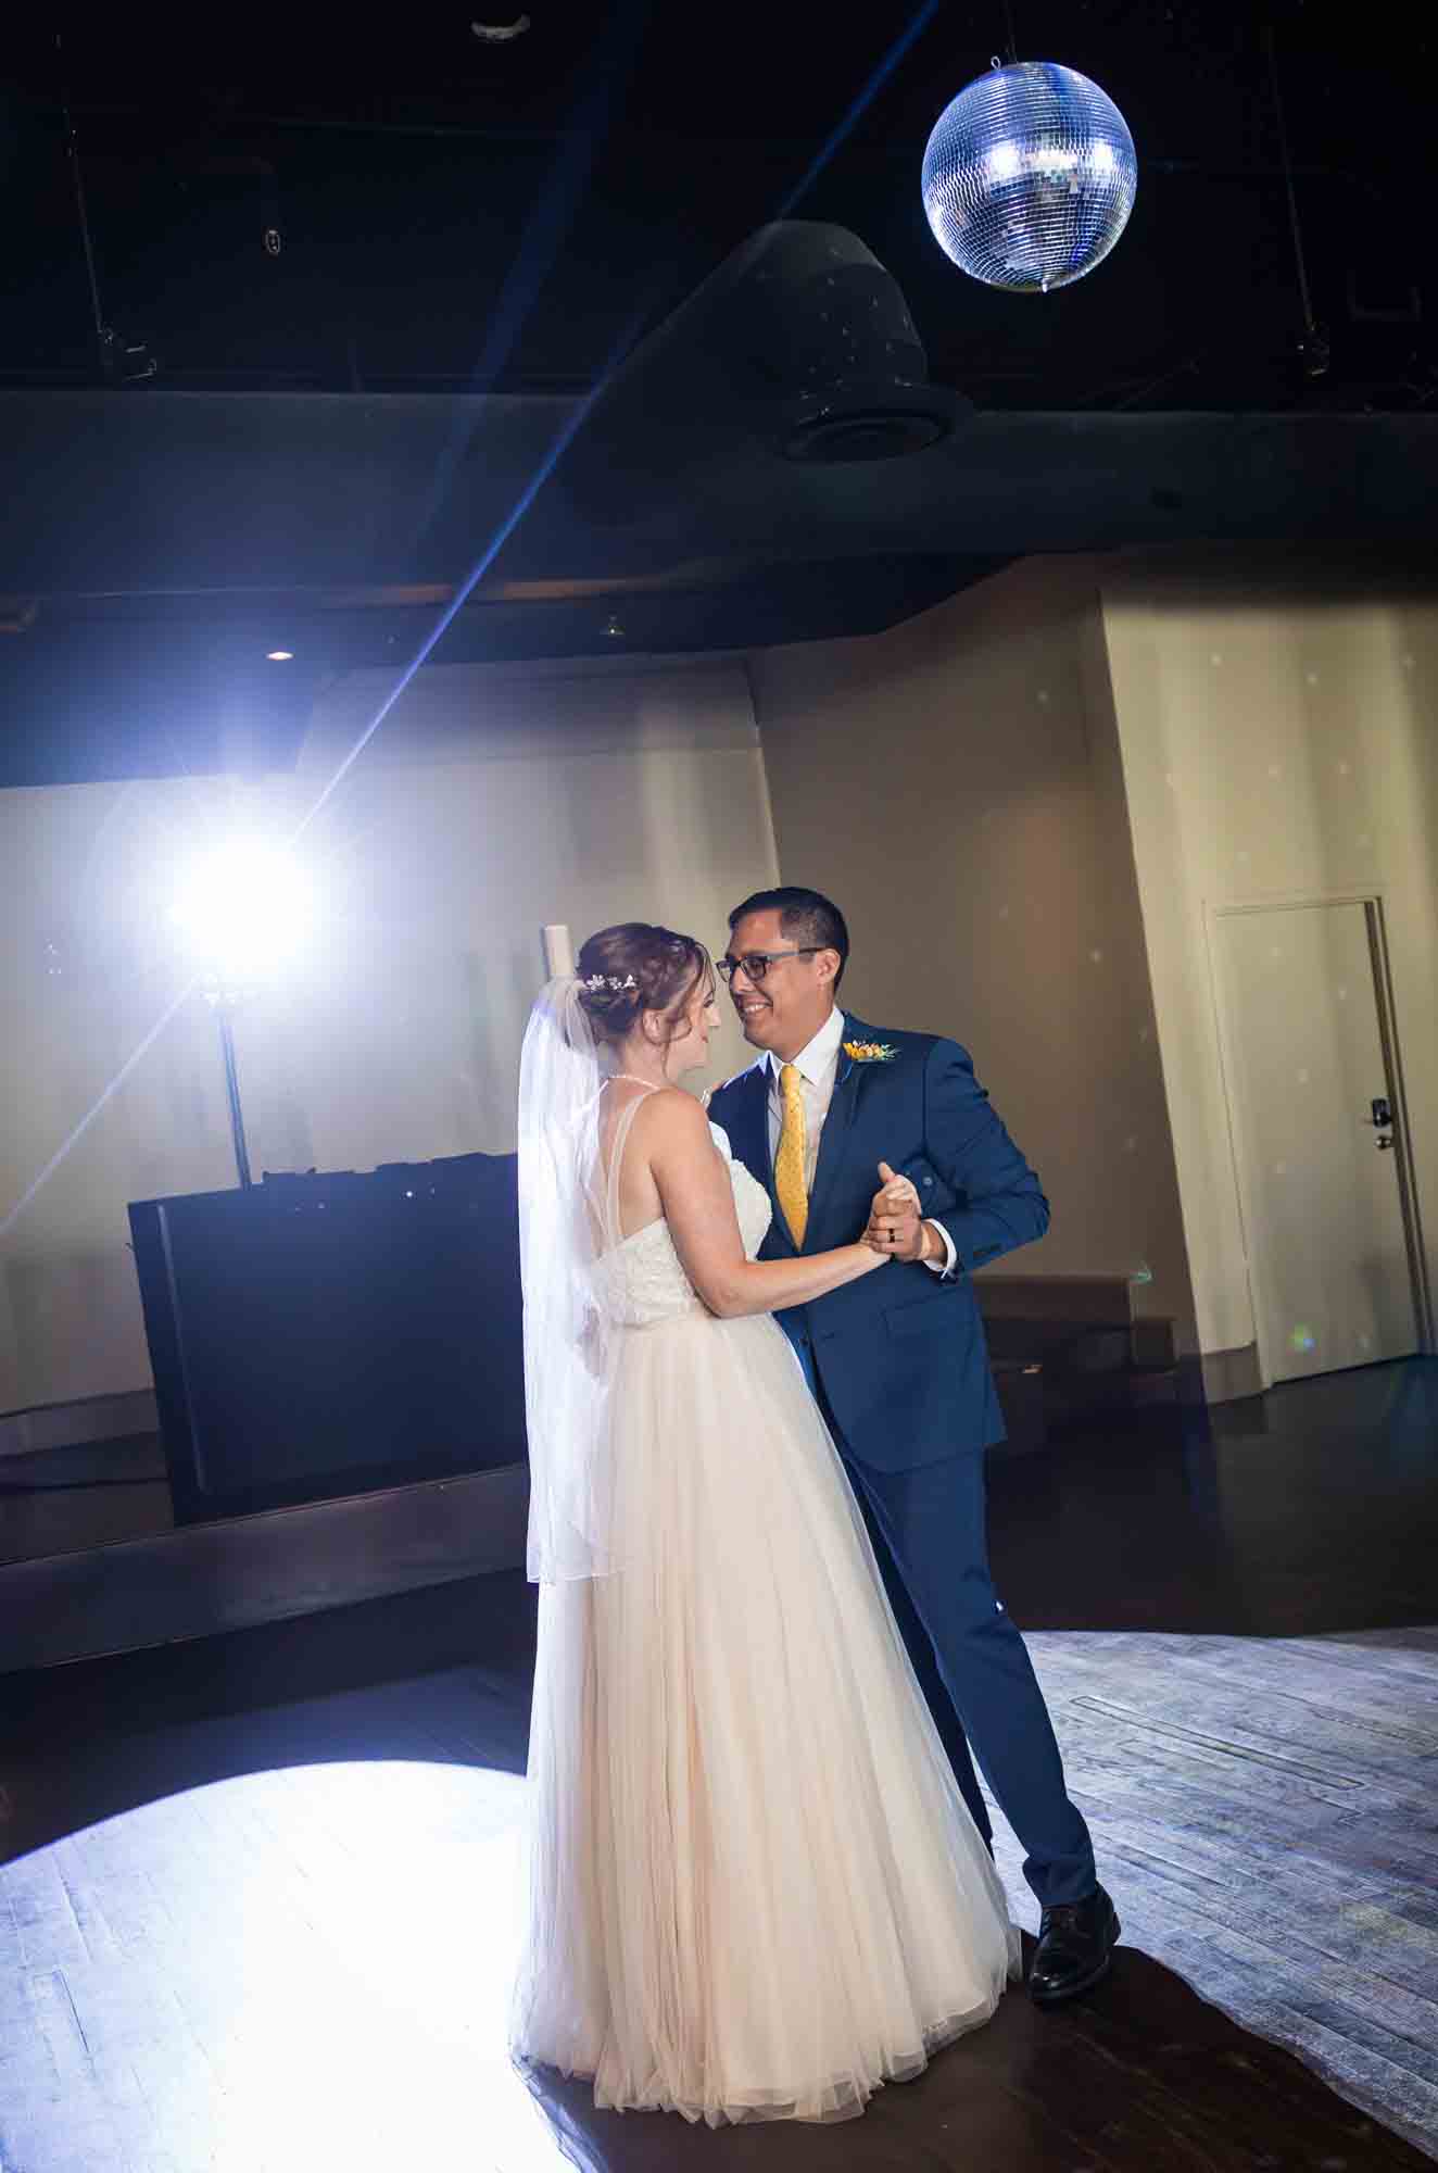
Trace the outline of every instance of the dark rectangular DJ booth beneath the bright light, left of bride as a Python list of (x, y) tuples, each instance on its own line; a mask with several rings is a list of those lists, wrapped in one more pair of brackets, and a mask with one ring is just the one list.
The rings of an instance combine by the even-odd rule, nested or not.
[(524, 1462), (513, 1154), (139, 1199), (176, 1523)]

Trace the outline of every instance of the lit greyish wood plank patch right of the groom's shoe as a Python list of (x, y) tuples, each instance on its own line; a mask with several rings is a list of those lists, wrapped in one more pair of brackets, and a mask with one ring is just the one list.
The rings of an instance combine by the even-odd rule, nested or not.
[(1125, 1938), (1438, 2153), (1438, 1632), (1030, 1649)]

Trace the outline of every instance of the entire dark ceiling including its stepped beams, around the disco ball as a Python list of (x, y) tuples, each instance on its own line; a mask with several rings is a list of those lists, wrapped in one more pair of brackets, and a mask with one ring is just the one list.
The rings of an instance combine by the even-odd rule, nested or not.
[[(1095, 76), (1138, 146), (1127, 233), (1047, 298), (964, 278), (919, 202), (1010, 11), (1019, 54)], [(7, 26), (0, 784), (285, 763), (328, 674), (421, 654), (867, 632), (1032, 550), (1427, 548), (1427, 20), (413, 17)], [(930, 378), (973, 404), (947, 443), (806, 467), (723, 413), (728, 361), (676, 313), (773, 219), (886, 267)]]

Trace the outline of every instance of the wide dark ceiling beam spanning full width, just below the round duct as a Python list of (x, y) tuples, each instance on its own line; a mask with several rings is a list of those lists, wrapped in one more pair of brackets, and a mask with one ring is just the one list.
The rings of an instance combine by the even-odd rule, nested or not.
[[(463, 585), (569, 417), (508, 395), (2, 391), (0, 595)], [(578, 456), (591, 482), (604, 443)], [(497, 565), (1429, 545), (1434, 504), (1438, 415), (980, 413), (930, 452), (834, 467), (736, 448), (699, 415), (658, 487), (615, 467), (604, 519), (578, 517), (560, 469)]]

